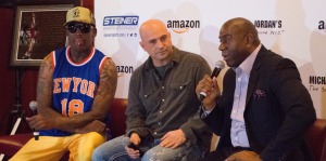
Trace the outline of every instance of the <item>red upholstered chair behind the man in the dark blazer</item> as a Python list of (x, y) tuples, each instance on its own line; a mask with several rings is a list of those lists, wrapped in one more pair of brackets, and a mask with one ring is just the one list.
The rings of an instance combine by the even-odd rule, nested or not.
[(306, 136), (315, 161), (326, 161), (326, 119), (317, 119)]

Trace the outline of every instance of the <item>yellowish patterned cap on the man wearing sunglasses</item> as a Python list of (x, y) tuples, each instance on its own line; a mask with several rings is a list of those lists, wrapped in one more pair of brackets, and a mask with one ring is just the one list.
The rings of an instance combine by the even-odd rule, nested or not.
[(65, 26), (70, 22), (82, 22), (96, 26), (96, 21), (89, 9), (83, 6), (75, 6), (67, 11)]

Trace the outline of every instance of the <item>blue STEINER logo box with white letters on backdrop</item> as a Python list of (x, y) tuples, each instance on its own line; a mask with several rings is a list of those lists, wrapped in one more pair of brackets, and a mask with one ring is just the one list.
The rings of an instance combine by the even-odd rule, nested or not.
[(138, 25), (139, 16), (105, 16), (103, 26)]

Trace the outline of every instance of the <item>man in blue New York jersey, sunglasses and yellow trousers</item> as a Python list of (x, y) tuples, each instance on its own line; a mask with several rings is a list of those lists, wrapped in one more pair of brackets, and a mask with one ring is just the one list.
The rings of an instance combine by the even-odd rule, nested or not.
[(11, 160), (90, 160), (104, 143), (106, 111), (116, 89), (113, 61), (93, 48), (97, 35), (92, 13), (82, 6), (67, 11), (63, 25), (68, 46), (45, 57), (37, 83), (37, 112), (26, 118), (40, 131)]

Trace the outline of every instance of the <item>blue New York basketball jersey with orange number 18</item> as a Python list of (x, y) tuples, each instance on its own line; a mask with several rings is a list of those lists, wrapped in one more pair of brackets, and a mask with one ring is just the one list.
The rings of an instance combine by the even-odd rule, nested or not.
[[(70, 46), (52, 52), (52, 108), (65, 117), (90, 111), (100, 81), (100, 69), (106, 58), (103, 53), (92, 49), (87, 58), (76, 64), (70, 56)], [(40, 131), (40, 135), (67, 136), (71, 133), (52, 129)]]

